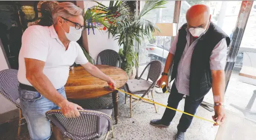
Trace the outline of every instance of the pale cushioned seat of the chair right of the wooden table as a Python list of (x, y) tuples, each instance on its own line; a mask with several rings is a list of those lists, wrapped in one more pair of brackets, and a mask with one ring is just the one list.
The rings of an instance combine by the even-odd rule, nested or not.
[(126, 85), (128, 87), (128, 90), (134, 93), (134, 92), (147, 91), (151, 84), (149, 84), (148, 81), (146, 80), (132, 79), (132, 80), (128, 80)]

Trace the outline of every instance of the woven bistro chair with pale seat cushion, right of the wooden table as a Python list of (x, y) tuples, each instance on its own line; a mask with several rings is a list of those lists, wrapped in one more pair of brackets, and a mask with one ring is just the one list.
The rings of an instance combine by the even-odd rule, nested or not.
[[(140, 79), (141, 76), (143, 75), (145, 70), (147, 70), (148, 67), (150, 67), (150, 68), (149, 68), (149, 73), (148, 73), (147, 80)], [(149, 92), (151, 92), (152, 98), (149, 98), (149, 99), (154, 101), (153, 88), (154, 88), (154, 85), (156, 84), (157, 79), (160, 76), (161, 72), (162, 72), (162, 62), (160, 62), (158, 60), (151, 61), (146, 66), (146, 68), (143, 70), (143, 72), (141, 73), (139, 78), (127, 81), (127, 83), (124, 86), (124, 90), (126, 92), (129, 92), (129, 93), (134, 94), (134, 95), (135, 94), (142, 94), (142, 96), (141, 96), (142, 98), (144, 98), (145, 95), (148, 95), (148, 98), (149, 98)], [(151, 80), (152, 82), (150, 82), (149, 80)], [(126, 103), (126, 100), (127, 100), (127, 96), (128, 95), (125, 94), (125, 103)], [(135, 104), (133, 106), (132, 104), (136, 101), (141, 101), (141, 99), (137, 99), (137, 98), (134, 98), (134, 99), (135, 100), (133, 100), (132, 96), (130, 96), (130, 115), (131, 115), (131, 117), (133, 117), (133, 107), (137, 105), (137, 104)], [(147, 102), (147, 101), (144, 101), (144, 102), (150, 103), (150, 102)], [(150, 103), (150, 104), (153, 104), (153, 103)], [(155, 112), (157, 113), (157, 108), (156, 108), (155, 104), (153, 104), (153, 105), (154, 105), (154, 108), (155, 108)]]

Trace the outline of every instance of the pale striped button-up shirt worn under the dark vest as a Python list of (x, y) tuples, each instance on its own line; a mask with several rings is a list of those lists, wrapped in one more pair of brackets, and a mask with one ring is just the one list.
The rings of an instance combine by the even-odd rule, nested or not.
[[(173, 55), (175, 55), (178, 36), (179, 36), (179, 33), (177, 33), (177, 36), (174, 38), (173, 42), (171, 43), (171, 48), (169, 50), (169, 52)], [(177, 75), (174, 80), (174, 83), (179, 93), (189, 96), (189, 74), (190, 74), (191, 57), (192, 57), (192, 53), (195, 48), (195, 45), (200, 39), (200, 37), (193, 42), (191, 41), (190, 43), (190, 40), (192, 39), (192, 37), (190, 35), (189, 30), (187, 29), (186, 38), (187, 38), (187, 44), (180, 58), (178, 68), (177, 68)], [(225, 63), (226, 63), (226, 56), (227, 56), (226, 53), (227, 53), (227, 43), (226, 43), (226, 39), (223, 38), (214, 47), (211, 53), (211, 56), (210, 56), (211, 70), (224, 70)]]

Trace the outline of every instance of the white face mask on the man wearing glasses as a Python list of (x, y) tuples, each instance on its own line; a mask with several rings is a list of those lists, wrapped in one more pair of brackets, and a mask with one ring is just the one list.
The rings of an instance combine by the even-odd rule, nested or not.
[[(65, 20), (64, 20), (65, 21)], [(66, 21), (65, 21), (66, 22)], [(67, 22), (66, 22), (67, 23)], [(68, 24), (68, 23), (67, 23)], [(69, 25), (68, 25), (69, 26)], [(62, 27), (61, 27), (62, 28)], [(62, 28), (63, 29), (63, 28)], [(63, 29), (64, 30), (64, 29)], [(82, 28), (80, 29), (76, 29), (72, 26), (69, 26), (69, 33), (67, 33), (65, 30), (65, 35), (67, 37), (67, 39), (70, 41), (70, 42), (77, 42), (81, 35), (82, 35)]]

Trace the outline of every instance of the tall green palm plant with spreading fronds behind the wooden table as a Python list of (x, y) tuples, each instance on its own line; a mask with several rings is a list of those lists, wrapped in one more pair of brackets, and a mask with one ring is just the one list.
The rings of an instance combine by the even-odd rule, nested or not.
[[(95, 21), (97, 18), (107, 19), (98, 20), (97, 22), (103, 23), (102, 25), (105, 24), (104, 26), (108, 29), (109, 37), (112, 35), (115, 40), (118, 40), (119, 46), (123, 47), (119, 49), (119, 55), (122, 59), (121, 68), (128, 74), (135, 65), (138, 65), (136, 42), (140, 45), (144, 37), (151, 37), (155, 29), (159, 30), (154, 23), (143, 19), (143, 15), (148, 14), (153, 9), (163, 8), (167, 1), (146, 1), (138, 15), (134, 14), (130, 8), (131, 6), (129, 6), (131, 3), (127, 1), (111, 0), (109, 7), (99, 2), (97, 3), (99, 5), (95, 9), (97, 9), (98, 15), (95, 15)], [(102, 11), (101, 14), (99, 14), (100, 11)], [(87, 10), (86, 12), (88, 14), (90, 11)], [(91, 16), (92, 20), (94, 20), (94, 14), (90, 14), (89, 17)], [(86, 17), (88, 18), (87, 15)]]

